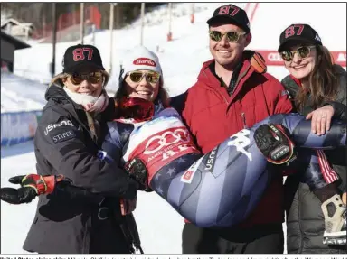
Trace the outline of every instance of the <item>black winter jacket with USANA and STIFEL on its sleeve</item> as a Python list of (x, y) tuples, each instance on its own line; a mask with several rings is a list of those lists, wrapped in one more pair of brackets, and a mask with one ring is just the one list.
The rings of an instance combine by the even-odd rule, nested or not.
[(52, 194), (40, 196), (24, 250), (43, 254), (128, 254), (118, 223), (119, 198), (135, 198), (137, 183), (116, 163), (98, 158), (107, 116), (114, 112), (113, 99), (96, 118), (100, 125), (96, 136), (91, 134), (85, 111), (60, 86), (48, 88), (45, 98), (48, 103), (34, 138), (37, 173), (63, 174), (72, 185), (99, 199), (72, 197), (57, 188)]

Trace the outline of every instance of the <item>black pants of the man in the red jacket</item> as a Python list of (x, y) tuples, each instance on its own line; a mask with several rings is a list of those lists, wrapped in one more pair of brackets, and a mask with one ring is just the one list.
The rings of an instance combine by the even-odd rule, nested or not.
[(186, 223), (183, 254), (283, 254), (282, 224), (252, 228), (200, 228)]

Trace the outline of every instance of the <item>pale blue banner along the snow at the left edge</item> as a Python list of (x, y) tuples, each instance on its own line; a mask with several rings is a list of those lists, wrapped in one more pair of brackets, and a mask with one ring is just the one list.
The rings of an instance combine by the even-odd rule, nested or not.
[(32, 140), (41, 116), (41, 111), (2, 113), (1, 146)]

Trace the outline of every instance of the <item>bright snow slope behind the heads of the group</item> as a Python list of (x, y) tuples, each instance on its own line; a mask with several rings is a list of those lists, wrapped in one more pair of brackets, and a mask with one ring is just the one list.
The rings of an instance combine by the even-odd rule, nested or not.
[[(173, 41), (167, 42), (169, 15), (166, 6), (145, 16), (143, 44), (155, 51), (161, 61), (165, 75), (166, 88), (175, 95), (184, 92), (196, 81), (201, 64), (211, 59), (209, 51), (208, 25), (206, 21), (222, 3), (195, 3), (194, 23), (190, 23), (190, 3), (173, 4), (171, 32)], [(237, 3), (241, 8), (245, 3)], [(295, 11), (295, 10), (298, 10)], [(317, 10), (310, 12), (310, 10)], [(330, 51), (346, 50), (346, 4), (345, 3), (260, 3), (253, 12), (251, 21), (251, 50), (276, 51), (279, 47), (279, 34), (292, 23), (309, 23), (319, 33), (323, 43)], [(292, 13), (293, 15), (286, 15)], [(327, 19), (323, 15), (327, 14)], [(332, 21), (333, 26), (329, 23)], [(122, 30), (114, 30), (113, 45), (110, 48), (110, 32), (95, 34), (94, 45), (99, 48), (103, 64), (110, 69), (111, 79), (108, 88), (116, 91), (120, 61), (128, 51), (140, 44), (140, 21)], [(334, 40), (336, 35), (336, 41)], [(84, 38), (92, 43), (92, 35)], [(79, 42), (62, 42), (56, 45), (56, 72), (62, 69), (61, 58), (64, 51)], [(52, 44), (33, 44), (32, 48), (15, 51), (14, 73), (29, 79), (47, 83), (51, 79)], [(34, 62), (34, 65), (33, 65)], [(278, 79), (288, 74), (283, 67), (270, 67), (269, 72)]]

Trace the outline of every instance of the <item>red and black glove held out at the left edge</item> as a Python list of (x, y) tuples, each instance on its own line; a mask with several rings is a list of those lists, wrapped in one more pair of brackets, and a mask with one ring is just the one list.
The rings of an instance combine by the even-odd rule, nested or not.
[(17, 175), (8, 181), (14, 184), (21, 184), (21, 187), (19, 189), (1, 188), (0, 199), (11, 204), (28, 203), (38, 195), (52, 193), (56, 182), (63, 179), (64, 177), (62, 175)]

